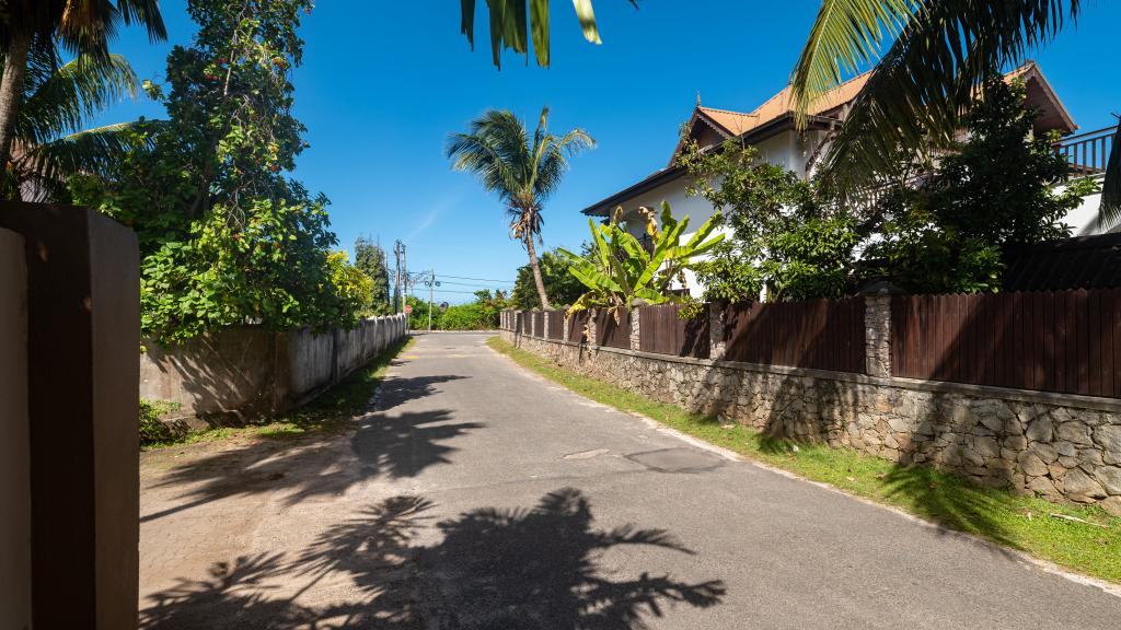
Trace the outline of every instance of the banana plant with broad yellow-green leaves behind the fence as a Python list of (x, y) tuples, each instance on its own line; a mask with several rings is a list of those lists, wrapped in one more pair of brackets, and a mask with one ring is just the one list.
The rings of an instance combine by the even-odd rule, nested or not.
[(568, 315), (587, 308), (605, 308), (618, 322), (620, 312), (629, 311), (636, 299), (648, 304), (683, 302), (683, 298), (669, 293), (670, 282), (684, 279), (683, 272), (698, 262), (697, 258), (724, 240), (724, 234), (713, 235), (717, 216), (705, 221), (682, 243), (682, 234), (689, 225), (688, 216), (677, 221), (669, 211), (669, 204), (663, 202), (659, 229), (654, 211), (647, 207), (640, 211), (646, 219), (646, 232), (654, 243), (652, 253), (620, 225), (622, 207), (615, 209), (605, 225), (596, 225), (589, 220), (592, 251), (587, 257), (564, 248), (557, 250), (571, 263), (569, 272), (587, 287), (587, 291), (568, 308)]

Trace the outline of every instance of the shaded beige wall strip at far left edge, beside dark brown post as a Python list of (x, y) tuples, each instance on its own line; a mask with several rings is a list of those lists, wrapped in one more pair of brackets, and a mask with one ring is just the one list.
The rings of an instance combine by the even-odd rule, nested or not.
[(31, 471), (24, 238), (0, 229), (0, 628), (31, 627)]

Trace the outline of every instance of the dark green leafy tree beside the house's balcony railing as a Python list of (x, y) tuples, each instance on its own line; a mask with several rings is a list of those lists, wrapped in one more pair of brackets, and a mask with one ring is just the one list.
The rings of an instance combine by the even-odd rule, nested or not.
[(915, 293), (998, 290), (1010, 249), (1069, 235), (1062, 219), (1096, 184), (1056, 192), (1071, 165), (1054, 138), (1031, 136), (1038, 112), (1026, 99), (1021, 83), (992, 76), (964, 115), (966, 139), (884, 197), (882, 238), (868, 251), (881, 274)]

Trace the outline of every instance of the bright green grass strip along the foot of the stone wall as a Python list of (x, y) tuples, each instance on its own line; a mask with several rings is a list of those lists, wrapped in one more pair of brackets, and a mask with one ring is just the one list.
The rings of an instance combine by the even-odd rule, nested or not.
[[(948, 529), (1027, 552), (1085, 575), (1121, 583), (1121, 518), (1110, 517), (1101, 508), (1060, 506), (1007, 490), (981, 488), (952, 473), (926, 466), (901, 466), (851, 448), (795, 445), (577, 374), (499, 337), (490, 339), (488, 344), (518, 364), (596, 402), (647, 416), (752, 460), (899, 508)], [(1057, 519), (1051, 515), (1095, 525)]]

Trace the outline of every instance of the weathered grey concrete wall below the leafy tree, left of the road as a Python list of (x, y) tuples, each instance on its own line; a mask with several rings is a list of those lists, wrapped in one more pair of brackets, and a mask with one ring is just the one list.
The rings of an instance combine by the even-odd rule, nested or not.
[(407, 333), (404, 315), (353, 330), (272, 333), (240, 326), (140, 355), (140, 398), (204, 418), (243, 419), (300, 404), (368, 363)]

